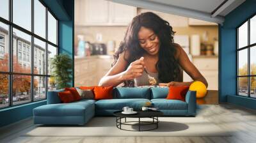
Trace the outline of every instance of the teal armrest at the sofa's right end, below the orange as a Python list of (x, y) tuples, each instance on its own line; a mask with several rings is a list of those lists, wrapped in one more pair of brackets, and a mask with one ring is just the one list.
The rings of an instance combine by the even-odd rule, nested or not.
[(186, 94), (186, 103), (188, 103), (188, 115), (196, 115), (196, 91), (188, 91)]

